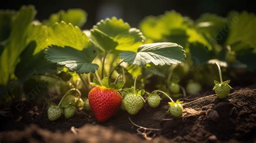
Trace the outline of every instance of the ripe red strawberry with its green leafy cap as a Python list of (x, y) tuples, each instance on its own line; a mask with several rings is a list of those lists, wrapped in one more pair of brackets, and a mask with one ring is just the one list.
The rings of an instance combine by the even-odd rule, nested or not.
[(117, 88), (122, 88), (124, 84), (121, 81), (110, 85), (109, 78), (104, 78), (102, 84), (97, 79), (93, 79), (93, 81), (97, 86), (89, 92), (89, 104), (95, 118), (104, 122), (116, 114), (122, 105), (122, 96)]

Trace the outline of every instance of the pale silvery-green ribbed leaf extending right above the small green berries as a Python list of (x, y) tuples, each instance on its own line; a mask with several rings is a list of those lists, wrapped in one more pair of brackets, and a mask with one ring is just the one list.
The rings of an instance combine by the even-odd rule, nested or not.
[(181, 63), (186, 57), (183, 47), (176, 43), (153, 43), (141, 45), (138, 52), (124, 51), (119, 57), (129, 64), (146, 66), (153, 63), (155, 65), (170, 65)]

